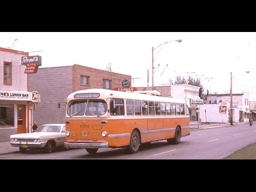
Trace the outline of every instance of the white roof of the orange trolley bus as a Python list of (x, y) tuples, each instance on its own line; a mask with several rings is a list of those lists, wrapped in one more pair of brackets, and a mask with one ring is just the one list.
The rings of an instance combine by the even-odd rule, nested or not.
[[(67, 99), (74, 99), (74, 95), (77, 93), (99, 93), (100, 97), (103, 98), (123, 98), (123, 99), (137, 99), (137, 100), (148, 100), (148, 101), (162, 101), (162, 102), (176, 102), (176, 103), (185, 103), (185, 101), (178, 98), (156, 96), (151, 94), (149, 91), (139, 91), (139, 92), (124, 92), (124, 91), (115, 91), (115, 90), (106, 90), (106, 89), (86, 89), (73, 92), (68, 95)], [(144, 93), (144, 94), (143, 94)], [(82, 99), (82, 98), (81, 98)], [(87, 98), (89, 99), (89, 98)]]

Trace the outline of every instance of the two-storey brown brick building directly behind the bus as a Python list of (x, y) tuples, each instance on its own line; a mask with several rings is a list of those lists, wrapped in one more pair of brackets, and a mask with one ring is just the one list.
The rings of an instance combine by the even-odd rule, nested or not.
[(93, 88), (114, 90), (122, 87), (123, 79), (131, 80), (131, 76), (81, 65), (38, 68), (29, 77), (29, 90), (37, 90), (40, 95), (40, 102), (34, 108), (34, 121), (37, 125), (65, 123), (70, 93)]

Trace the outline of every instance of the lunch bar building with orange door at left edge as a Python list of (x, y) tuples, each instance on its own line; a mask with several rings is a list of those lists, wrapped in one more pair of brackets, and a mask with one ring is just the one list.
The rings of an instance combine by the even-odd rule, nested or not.
[(21, 65), (21, 57), (28, 55), (0, 47), (0, 141), (9, 140), (11, 134), (31, 132), (33, 93), (28, 91), (26, 65)]

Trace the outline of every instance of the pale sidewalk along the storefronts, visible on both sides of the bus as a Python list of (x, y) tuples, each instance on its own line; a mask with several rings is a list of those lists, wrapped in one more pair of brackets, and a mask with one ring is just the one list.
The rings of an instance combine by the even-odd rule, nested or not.
[[(190, 125), (190, 131), (237, 126), (239, 124), (248, 124), (248, 122), (233, 123), (233, 125), (230, 125), (230, 123), (212, 123), (212, 124), (199, 124), (199, 125), (195, 124), (195, 125)], [(12, 147), (9, 141), (0, 141), (0, 155), (14, 154), (14, 153), (20, 153), (19, 147)]]

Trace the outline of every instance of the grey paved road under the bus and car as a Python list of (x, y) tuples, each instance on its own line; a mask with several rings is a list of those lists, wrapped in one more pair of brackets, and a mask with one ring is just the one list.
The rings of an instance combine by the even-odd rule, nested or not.
[(181, 138), (179, 145), (166, 141), (141, 145), (137, 154), (126, 154), (125, 149), (99, 149), (90, 155), (85, 149), (57, 150), (52, 154), (30, 152), (27, 154), (0, 155), (0, 159), (222, 159), (234, 151), (256, 142), (256, 126), (239, 124), (220, 129), (191, 131)]

